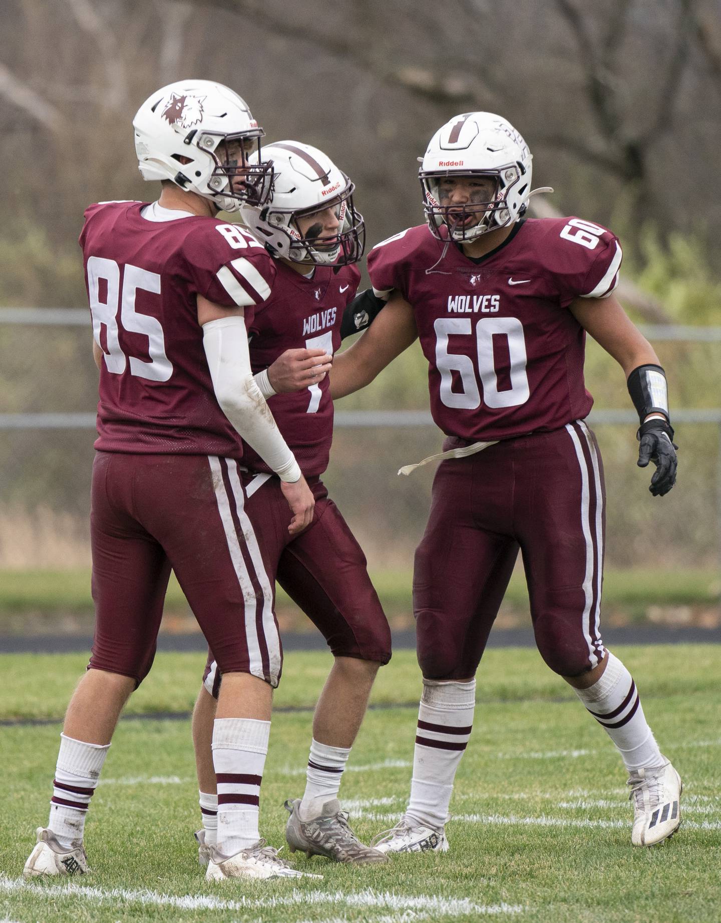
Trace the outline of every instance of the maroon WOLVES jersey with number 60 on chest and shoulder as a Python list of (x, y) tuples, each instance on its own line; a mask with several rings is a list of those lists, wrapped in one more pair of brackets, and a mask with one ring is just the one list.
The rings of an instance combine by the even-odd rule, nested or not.
[(444, 246), (422, 225), (367, 259), (374, 289), (397, 289), (413, 306), (440, 429), (505, 439), (583, 419), (593, 405), (583, 384), (585, 332), (568, 308), (616, 288), (616, 236), (559, 218), (519, 222), (478, 260), (451, 244), (439, 262)]

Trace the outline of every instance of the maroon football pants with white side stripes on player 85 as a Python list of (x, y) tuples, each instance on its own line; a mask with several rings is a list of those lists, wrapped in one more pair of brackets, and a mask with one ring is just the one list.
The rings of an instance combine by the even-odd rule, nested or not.
[(172, 568), (222, 670), (278, 684), (273, 587), (241, 476), (217, 456), (97, 452), (91, 667), (138, 684), (147, 675)]

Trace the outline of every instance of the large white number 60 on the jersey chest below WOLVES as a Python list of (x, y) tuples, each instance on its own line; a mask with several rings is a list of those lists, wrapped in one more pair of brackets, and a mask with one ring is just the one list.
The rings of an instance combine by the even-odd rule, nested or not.
[[(481, 394), (475, 377), (473, 359), (464, 354), (448, 352), (448, 338), (473, 333), (471, 318), (437, 318), (436, 367), (440, 372), (440, 400), (446, 407), (458, 410), (475, 410), (480, 406)], [(511, 388), (499, 390), (496, 366), (493, 362), (493, 337), (505, 336), (511, 358)], [(475, 345), (478, 354), (478, 375), (483, 386), (483, 400), (487, 407), (517, 407), (530, 395), (526, 375), (525, 338), (523, 324), (518, 318), (480, 318), (475, 325)], [(463, 390), (452, 390), (453, 376), (458, 372)]]

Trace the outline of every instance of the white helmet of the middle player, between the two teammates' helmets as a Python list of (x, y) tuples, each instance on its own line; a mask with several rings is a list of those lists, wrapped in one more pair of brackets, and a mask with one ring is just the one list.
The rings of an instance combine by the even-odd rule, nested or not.
[[(355, 186), (322, 150), (300, 141), (274, 141), (265, 153), (272, 158), (273, 196), (269, 205), (246, 203), (243, 222), (277, 257), (294, 263), (345, 266), (356, 263), (366, 245), (363, 215), (355, 210)], [(251, 159), (255, 162), (258, 155)], [(304, 236), (299, 218), (332, 206), (340, 224), (331, 238)]]

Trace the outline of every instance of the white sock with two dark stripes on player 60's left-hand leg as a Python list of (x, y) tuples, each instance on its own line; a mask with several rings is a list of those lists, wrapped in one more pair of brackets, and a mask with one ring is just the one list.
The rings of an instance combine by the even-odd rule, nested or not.
[(475, 679), (470, 683), (423, 680), (406, 809), (412, 820), (431, 827), (448, 821), (453, 779), (471, 736), (474, 710)]

